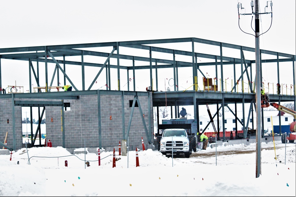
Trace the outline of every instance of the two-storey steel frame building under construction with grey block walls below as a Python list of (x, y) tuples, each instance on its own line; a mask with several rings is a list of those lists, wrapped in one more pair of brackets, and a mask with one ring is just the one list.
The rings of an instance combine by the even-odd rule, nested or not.
[[(183, 45), (188, 49), (180, 47)], [(213, 54), (201, 53), (205, 51), (204, 48), (209, 48)], [(229, 53), (229, 50), (232, 52)], [(224, 53), (231, 55), (223, 56)], [(245, 54), (251, 54), (250, 58), (245, 58)], [(2, 141), (8, 132), (10, 140), (7, 148), (16, 150), (23, 146), (22, 106), (31, 107), (31, 119), (32, 107), (38, 107), (39, 112), (41, 108), (39, 120), (46, 108), (46, 138), (51, 139), (53, 146), (65, 148), (82, 147), (82, 139), (88, 141), (89, 147), (117, 146), (118, 141), (127, 138), (131, 144), (136, 145), (141, 144), (141, 137), (144, 137), (146, 143), (152, 144), (155, 133), (153, 109), (157, 109), (155, 118), (159, 124), (159, 107), (163, 106), (171, 108), (171, 118), (173, 111), (174, 117), (178, 118), (179, 106), (192, 105), (194, 119), (198, 120), (199, 105), (215, 104), (217, 112), (213, 117), (222, 109), (224, 131), (224, 108), (227, 104), (235, 104), (235, 112), (230, 108), (229, 110), (237, 117), (237, 104), (242, 105), (243, 120), (235, 119), (242, 125), (246, 137), (256, 101), (256, 87), (253, 86), (255, 83), (252, 83), (255, 79), (252, 74), (252, 67), (254, 70), (255, 66), (254, 54), (255, 48), (200, 38), (0, 48), (0, 145), (6, 146)], [(263, 54), (268, 58), (262, 59)], [(283, 71), (287, 73), (289, 70), (293, 78), (290, 94), (287, 90), (286, 94), (283, 91), (269, 92), (270, 101), (292, 101), (295, 106), (295, 54), (260, 50), (260, 57), (261, 78), (262, 63), (267, 66), (276, 64), (274, 70), (278, 84), (281, 84), (283, 77), (287, 77), (280, 76)], [(200, 59), (207, 61), (199, 62)], [(28, 79), (28, 84), (37, 86), (32, 89), (32, 85), (29, 85), (28, 92), (14, 92), (14, 86), (7, 85), (3, 80), (4, 73), (1, 74), (1, 69), (7, 65), (9, 70), (13, 71), (10, 73), (18, 72), (11, 62), (27, 66), (28, 73), (22, 75)], [(215, 73), (213, 82), (210, 80), (211, 84), (208, 81), (207, 69), (203, 68), (209, 68)], [(237, 68), (239, 70), (236, 70)], [(192, 81), (186, 89), (179, 90), (179, 76), (184, 74), (183, 69), (187, 69), (186, 75), (190, 76), (190, 79), (192, 77)], [(170, 91), (157, 91), (160, 89), (159, 76), (163, 70), (173, 75), (170, 79), (173, 89)], [(144, 72), (139, 74), (139, 71)], [(79, 82), (76, 82), (77, 77), (73, 77), (73, 72), (81, 74)], [(227, 90), (225, 76), (229, 72), (233, 75), (233, 82), (231, 81), (231, 89)], [(60, 82), (61, 73), (63, 82)], [(10, 78), (13, 78), (14, 74), (11, 74)], [(89, 76), (93, 76), (90, 81)], [(148, 86), (151, 91), (145, 91), (144, 88), (143, 91), (137, 91), (137, 84), (143, 83), (141, 79), (146, 77), (149, 79)], [(96, 87), (98, 80), (105, 80), (103, 87), (106, 89)], [(125, 82), (127, 86), (123, 85)], [(75, 91), (60, 92), (61, 83), (71, 84)], [(130, 87), (130, 83), (133, 83), (133, 87)], [(247, 84), (247, 88), (244, 84)], [(267, 87), (269, 90), (269, 84)], [(53, 88), (58, 91), (52, 91)], [(247, 109), (250, 111), (248, 117), (244, 117), (245, 104), (250, 104)], [(71, 110), (67, 110), (67, 107)], [(135, 110), (136, 108), (139, 110)], [(197, 124), (197, 131), (199, 129)], [(36, 132), (31, 130), (32, 146), (38, 133), (41, 136), (40, 125)]]

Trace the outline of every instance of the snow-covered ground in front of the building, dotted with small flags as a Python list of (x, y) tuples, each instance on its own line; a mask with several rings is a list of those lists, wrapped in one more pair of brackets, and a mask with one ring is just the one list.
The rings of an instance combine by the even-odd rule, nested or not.
[(88, 151), (23, 148), (11, 161), (10, 155), (0, 155), (0, 196), (296, 196), (295, 143), (285, 148), (275, 141), (276, 149), (273, 142), (265, 144), (259, 178), (255, 147), (218, 146), (217, 165), (215, 147), (173, 160), (157, 150), (139, 150), (139, 167), (136, 151), (128, 156), (117, 151), (114, 168), (113, 152), (101, 151), (99, 166), (98, 155)]

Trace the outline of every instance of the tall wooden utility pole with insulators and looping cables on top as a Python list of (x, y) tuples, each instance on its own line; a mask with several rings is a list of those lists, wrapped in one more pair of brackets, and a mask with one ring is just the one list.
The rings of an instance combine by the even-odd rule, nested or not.
[[(270, 2), (270, 7), (271, 7), (271, 12), (267, 12), (265, 9), (268, 7), (268, 2)], [(259, 24), (259, 15), (260, 14), (271, 14), (271, 21), (272, 21), (272, 2), (267, 1), (267, 5), (265, 6), (265, 9), (263, 13), (259, 13), (259, 0), (255, 0), (255, 12), (253, 11), (254, 7), (254, 2), (253, 0), (251, 1), (251, 7), (252, 7), (252, 13), (251, 14), (240, 14), (239, 13), (239, 8), (244, 9), (242, 7), (241, 3), (237, 4), (237, 10), (238, 14), (240, 15), (255, 15), (255, 65), (256, 65), (256, 77), (255, 77), (255, 86), (256, 86), (256, 91), (255, 91), (255, 98), (256, 98), (256, 178), (259, 177), (261, 174), (261, 70), (260, 70), (260, 46), (259, 46), (259, 36), (262, 35), (260, 34), (260, 24)], [(240, 18), (239, 18), (240, 19)], [(239, 26), (240, 28), (240, 26)], [(270, 27), (269, 27), (270, 28)], [(241, 29), (242, 30), (242, 29)], [(269, 30), (269, 29), (268, 29)], [(267, 30), (267, 31), (268, 31)], [(266, 32), (267, 32), (266, 31)], [(242, 30), (242, 32), (244, 32)], [(266, 33), (264, 32), (264, 33)], [(246, 32), (244, 32), (246, 33)], [(250, 34), (250, 33), (247, 33)], [(252, 35), (252, 34), (250, 34)]]

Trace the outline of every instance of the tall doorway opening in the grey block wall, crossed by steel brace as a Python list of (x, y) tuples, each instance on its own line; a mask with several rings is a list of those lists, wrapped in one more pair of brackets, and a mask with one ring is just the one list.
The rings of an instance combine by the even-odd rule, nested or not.
[[(22, 143), (44, 146), (46, 143), (45, 107), (22, 107)], [(39, 124), (40, 121), (40, 124)]]

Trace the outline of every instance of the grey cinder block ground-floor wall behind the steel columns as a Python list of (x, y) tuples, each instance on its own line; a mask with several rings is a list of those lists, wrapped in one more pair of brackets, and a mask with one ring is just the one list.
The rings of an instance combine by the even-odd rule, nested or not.
[[(128, 122), (131, 115), (131, 104), (134, 96), (124, 95), (124, 130), (127, 134)], [(149, 133), (149, 116), (152, 116), (152, 96), (138, 96), (144, 120)], [(38, 101), (61, 101), (61, 99), (16, 99), (16, 100), (38, 100)], [(99, 114), (97, 95), (80, 95), (79, 99), (64, 100), (69, 102), (70, 108), (64, 111), (64, 127), (62, 130), (62, 107), (46, 106), (46, 141), (50, 140), (53, 147), (63, 146), (63, 132), (65, 133), (65, 148), (99, 147)], [(148, 105), (150, 102), (150, 105)], [(101, 106), (101, 139), (102, 147), (118, 147), (123, 136), (122, 96), (100, 95)], [(150, 114), (148, 110), (150, 106)], [(7, 145), (13, 147), (12, 135), (12, 100), (0, 100), (0, 140), (4, 141), (8, 131)], [(64, 109), (64, 108), (63, 108)], [(129, 145), (141, 147), (141, 137), (145, 144), (148, 143), (139, 107), (133, 111), (131, 127), (129, 131)], [(110, 116), (112, 119), (110, 120)], [(43, 117), (44, 118), (44, 117)], [(9, 123), (7, 124), (7, 119)], [(34, 131), (35, 133), (36, 131)], [(150, 136), (153, 138), (153, 124), (150, 123)], [(22, 148), (22, 112), (20, 106), (15, 106), (15, 138), (16, 149)]]

